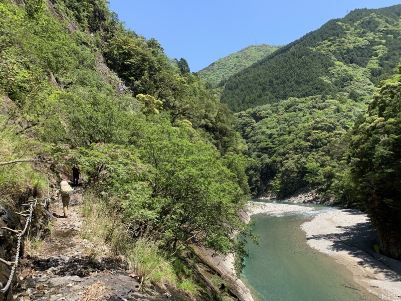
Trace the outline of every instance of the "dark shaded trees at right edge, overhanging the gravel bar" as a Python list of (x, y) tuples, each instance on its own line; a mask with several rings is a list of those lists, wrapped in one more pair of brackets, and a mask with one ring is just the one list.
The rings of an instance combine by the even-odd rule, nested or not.
[(374, 94), (352, 129), (348, 162), (356, 198), (376, 226), (380, 249), (401, 258), (401, 81), (399, 75)]

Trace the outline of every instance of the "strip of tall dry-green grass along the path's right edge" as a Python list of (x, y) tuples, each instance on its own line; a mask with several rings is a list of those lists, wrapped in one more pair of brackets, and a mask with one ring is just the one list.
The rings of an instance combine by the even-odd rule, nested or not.
[(169, 258), (153, 238), (142, 237), (134, 241), (118, 207), (98, 199), (95, 189), (85, 192), (81, 210), (85, 217), (81, 235), (96, 244), (97, 250), (87, 250), (94, 259), (100, 255), (97, 252), (99, 248), (107, 249), (125, 259), (141, 282), (141, 287), (149, 282), (161, 288), (167, 284), (191, 298), (199, 295), (201, 287), (192, 280), (192, 271), (182, 261)]

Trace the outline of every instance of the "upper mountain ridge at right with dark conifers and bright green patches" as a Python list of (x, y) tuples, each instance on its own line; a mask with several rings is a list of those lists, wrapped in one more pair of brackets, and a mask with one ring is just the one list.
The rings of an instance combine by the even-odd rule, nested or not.
[(289, 97), (371, 95), (401, 56), (400, 15), (396, 5), (331, 20), (227, 79), (222, 102), (240, 111)]

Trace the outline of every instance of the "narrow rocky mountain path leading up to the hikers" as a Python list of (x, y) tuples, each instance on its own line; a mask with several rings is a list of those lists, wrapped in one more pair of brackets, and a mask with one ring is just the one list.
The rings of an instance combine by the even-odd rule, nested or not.
[[(82, 190), (81, 190), (82, 191)], [(56, 192), (54, 193), (55, 196)], [(181, 296), (158, 289), (139, 291), (135, 275), (109, 254), (80, 235), (84, 219), (80, 214), (82, 196), (71, 197), (68, 218), (58, 218), (60, 201), (51, 204), (53, 230), (40, 252), (26, 254), (13, 299), (24, 300), (179, 300)]]

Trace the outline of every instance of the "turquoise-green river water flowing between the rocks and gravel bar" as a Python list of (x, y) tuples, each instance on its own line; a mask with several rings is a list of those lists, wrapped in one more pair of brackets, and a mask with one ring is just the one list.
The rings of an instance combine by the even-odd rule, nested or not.
[[(293, 204), (293, 203), (286, 203)], [(318, 205), (319, 211), (337, 210)], [(378, 300), (352, 281), (352, 273), (306, 243), (300, 226), (316, 211), (270, 216), (253, 215), (259, 245), (248, 243), (243, 281), (256, 300), (267, 301), (353, 301)]]

